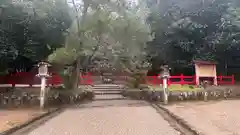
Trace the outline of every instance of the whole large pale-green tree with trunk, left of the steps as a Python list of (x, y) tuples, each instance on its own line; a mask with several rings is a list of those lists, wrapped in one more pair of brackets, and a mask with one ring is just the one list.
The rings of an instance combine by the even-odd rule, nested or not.
[(49, 57), (52, 62), (72, 65), (66, 72), (68, 82), (72, 83), (69, 88), (77, 87), (79, 68), (87, 68), (96, 57), (114, 56), (117, 63), (117, 60), (122, 62), (121, 58), (143, 56), (150, 29), (144, 18), (136, 16), (139, 8), (133, 3), (73, 0), (72, 6), (74, 21), (65, 47)]

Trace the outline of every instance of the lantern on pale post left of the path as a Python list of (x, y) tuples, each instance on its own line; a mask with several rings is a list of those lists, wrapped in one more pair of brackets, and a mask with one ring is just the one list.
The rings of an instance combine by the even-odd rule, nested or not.
[(46, 83), (47, 77), (50, 77), (48, 72), (48, 67), (51, 66), (49, 63), (40, 62), (38, 63), (38, 74), (37, 76), (41, 78), (41, 91), (40, 91), (40, 108), (44, 108), (45, 104), (45, 93), (46, 93)]

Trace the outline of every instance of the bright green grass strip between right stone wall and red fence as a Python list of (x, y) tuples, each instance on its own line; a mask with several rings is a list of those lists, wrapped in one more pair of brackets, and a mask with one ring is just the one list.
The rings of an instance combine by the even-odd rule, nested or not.
[[(150, 90), (159, 91), (162, 90), (162, 86), (156, 86), (156, 85), (150, 85), (148, 86)], [(201, 90), (201, 88), (198, 88), (194, 85), (180, 85), (180, 84), (173, 84), (168, 87), (170, 91), (197, 91)]]

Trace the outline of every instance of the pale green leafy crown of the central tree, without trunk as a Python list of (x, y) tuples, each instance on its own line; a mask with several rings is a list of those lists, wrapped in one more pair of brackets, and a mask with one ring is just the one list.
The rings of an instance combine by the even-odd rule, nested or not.
[[(71, 57), (69, 59), (75, 61), (78, 57), (80, 61), (85, 61), (85, 58), (88, 58), (90, 60), (85, 62), (87, 65), (96, 57), (110, 58), (114, 56), (112, 60), (115, 64), (121, 61), (122, 57), (135, 59), (135, 61), (142, 60), (145, 56), (146, 42), (151, 40), (151, 36), (149, 26), (142, 16), (137, 15), (140, 9), (137, 7), (127, 8), (121, 4), (115, 5), (116, 3), (110, 1), (105, 2), (103, 4), (102, 2), (84, 1), (83, 7), (89, 3), (94, 3), (95, 7), (91, 7), (92, 9), (86, 13), (83, 13), (82, 10), (81, 14), (74, 13), (80, 14), (78, 15), (80, 19), (74, 16), (74, 21), (66, 38), (65, 48), (66, 51), (70, 51), (67, 52), (70, 54), (74, 50), (76, 57), (68, 55)], [(105, 6), (108, 8), (104, 8)], [(116, 7), (118, 8), (117, 12)], [(65, 55), (66, 51), (62, 54), (59, 53), (64, 56), (57, 58), (57, 54), (54, 54), (53, 56), (56, 57), (51, 56), (50, 59), (62, 59), (62, 57), (67, 56)]]

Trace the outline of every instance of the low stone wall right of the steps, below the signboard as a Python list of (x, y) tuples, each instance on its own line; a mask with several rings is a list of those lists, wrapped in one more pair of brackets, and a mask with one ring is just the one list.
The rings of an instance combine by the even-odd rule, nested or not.
[[(125, 90), (123, 96), (139, 100), (163, 101), (162, 91), (150, 90)], [(177, 101), (207, 101), (239, 98), (237, 92), (231, 89), (224, 90), (199, 90), (199, 91), (174, 91), (169, 92), (169, 102)]]

